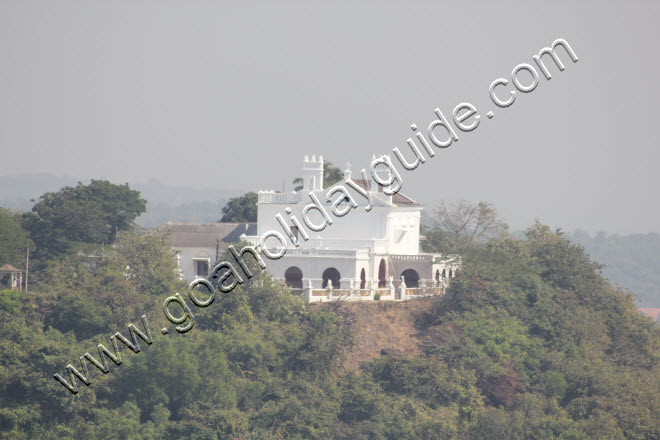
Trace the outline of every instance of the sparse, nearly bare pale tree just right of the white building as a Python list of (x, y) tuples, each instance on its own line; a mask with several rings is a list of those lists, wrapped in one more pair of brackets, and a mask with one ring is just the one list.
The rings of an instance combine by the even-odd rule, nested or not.
[(462, 253), (478, 242), (506, 233), (508, 226), (487, 202), (465, 200), (453, 205), (441, 202), (435, 209), (434, 225), (424, 231), (428, 250)]

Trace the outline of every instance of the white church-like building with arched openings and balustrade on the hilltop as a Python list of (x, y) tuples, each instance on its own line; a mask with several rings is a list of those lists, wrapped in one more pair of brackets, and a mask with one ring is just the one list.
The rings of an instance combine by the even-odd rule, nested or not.
[[(353, 180), (372, 193), (373, 208), (363, 205), (350, 210), (344, 217), (328, 215), (332, 224), (322, 231), (305, 228), (306, 213), (312, 224), (322, 224), (324, 215), (319, 209), (305, 207), (312, 203), (310, 192), (323, 204), (326, 213), (333, 212), (332, 201), (323, 188), (323, 157), (305, 156), (302, 168), (303, 189), (300, 192), (280, 193), (259, 191), (257, 231), (246, 233), (241, 239), (252, 245), (261, 236), (276, 230), (287, 237), (286, 230), (276, 219), (280, 214), (291, 227), (301, 245), (289, 241), (280, 259), (264, 258), (268, 270), (292, 289), (299, 289), (310, 301), (325, 301), (344, 296), (347, 299), (407, 299), (411, 296), (444, 292), (448, 280), (456, 273), (459, 258), (420, 252), (420, 218), (423, 207), (414, 200), (395, 193), (388, 196), (383, 187), (371, 180)], [(344, 172), (345, 185), (351, 171)], [(334, 188), (334, 185), (332, 188)], [(335, 197), (336, 198), (336, 197)], [(349, 200), (345, 200), (346, 205)], [(358, 196), (355, 197), (358, 200)], [(364, 198), (366, 204), (366, 198)], [(295, 216), (303, 226), (293, 226)], [(305, 236), (308, 237), (305, 240)], [(246, 257), (249, 255), (246, 254)], [(251, 257), (250, 257), (251, 258)]]

